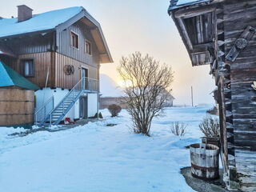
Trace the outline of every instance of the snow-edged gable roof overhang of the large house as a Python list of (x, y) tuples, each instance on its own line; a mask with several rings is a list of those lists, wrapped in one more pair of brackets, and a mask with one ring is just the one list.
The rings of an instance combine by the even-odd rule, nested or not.
[(89, 26), (90, 33), (92, 34), (92, 37), (94, 38), (94, 41), (99, 51), (100, 62), (113, 62), (110, 50), (106, 44), (106, 39), (102, 32), (102, 27), (85, 9), (83, 9), (79, 14), (75, 15), (73, 18), (70, 18), (68, 21), (56, 26), (55, 30), (62, 31), (66, 29), (68, 26), (74, 24), (74, 22), (78, 22), (79, 20), (84, 22), (86, 26)]

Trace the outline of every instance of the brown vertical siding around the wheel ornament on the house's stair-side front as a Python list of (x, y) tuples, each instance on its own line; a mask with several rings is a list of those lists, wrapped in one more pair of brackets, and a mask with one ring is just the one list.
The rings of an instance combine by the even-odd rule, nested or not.
[[(56, 53), (56, 87), (72, 89), (73, 86), (81, 79), (81, 67), (88, 69), (88, 77), (98, 79), (98, 66), (90, 66), (84, 62), (79, 62), (74, 58), (66, 57), (65, 55)], [(74, 74), (67, 75), (64, 73), (65, 65), (74, 66)]]

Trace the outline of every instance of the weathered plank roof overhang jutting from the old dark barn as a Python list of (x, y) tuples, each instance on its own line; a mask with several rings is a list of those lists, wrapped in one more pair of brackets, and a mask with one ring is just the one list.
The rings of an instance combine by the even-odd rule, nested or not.
[[(175, 0), (174, 0), (175, 1)], [(212, 50), (214, 50), (214, 42), (212, 37), (211, 39), (204, 39), (204, 40), (196, 40), (191, 38), (191, 29), (190, 27), (186, 26), (188, 23), (190, 23), (190, 18), (197, 18), (197, 23), (202, 22), (202, 15), (206, 14), (212, 14), (210, 17), (214, 17), (214, 13), (216, 10), (216, 2), (222, 2), (224, 0), (201, 0), (201, 1), (195, 1), (192, 3), (186, 3), (181, 6), (176, 6), (176, 2), (171, 2), (168, 9), (168, 13), (171, 15), (171, 17), (174, 20), (175, 25), (178, 28), (178, 32), (182, 37), (182, 41), (184, 42), (186, 46), (186, 50), (188, 51), (188, 54), (190, 55), (190, 60), (192, 62), (192, 66), (201, 66), (201, 65), (208, 65), (214, 62), (214, 54), (212, 53)], [(190, 24), (192, 25), (192, 24)], [(214, 36), (214, 23), (212, 24), (213, 28), (210, 28), (212, 30), (212, 34)], [(197, 28), (198, 26), (195, 26)], [(200, 28), (200, 27), (199, 27)], [(197, 34), (197, 36), (202, 35), (203, 31), (196, 29), (194, 30), (193, 34)], [(194, 38), (198, 38), (195, 36)]]

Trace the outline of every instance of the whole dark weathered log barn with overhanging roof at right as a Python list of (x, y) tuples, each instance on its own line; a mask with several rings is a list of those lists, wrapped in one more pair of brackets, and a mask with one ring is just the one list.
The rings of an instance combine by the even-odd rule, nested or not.
[(215, 78), (226, 186), (256, 191), (256, 0), (171, 0), (168, 13), (192, 66)]

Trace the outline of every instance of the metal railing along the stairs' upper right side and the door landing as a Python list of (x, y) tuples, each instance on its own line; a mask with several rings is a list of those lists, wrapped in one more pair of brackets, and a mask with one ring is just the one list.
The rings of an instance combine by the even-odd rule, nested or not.
[[(81, 78), (80, 81), (70, 90), (68, 94), (64, 98), (62, 98), (61, 102), (58, 103), (58, 106), (54, 107), (53, 110), (50, 111), (48, 114), (48, 117), (50, 118), (50, 126), (52, 122), (52, 114), (54, 113), (55, 109), (62, 108), (62, 114), (63, 116), (70, 110), (70, 108), (64, 110), (64, 102), (66, 98), (72, 98), (72, 101), (75, 102), (77, 100), (77, 97), (75, 97), (75, 94), (81, 91), (88, 90), (88, 93), (97, 93), (98, 92), (98, 80), (93, 78)], [(81, 94), (79, 94), (80, 97)]]

